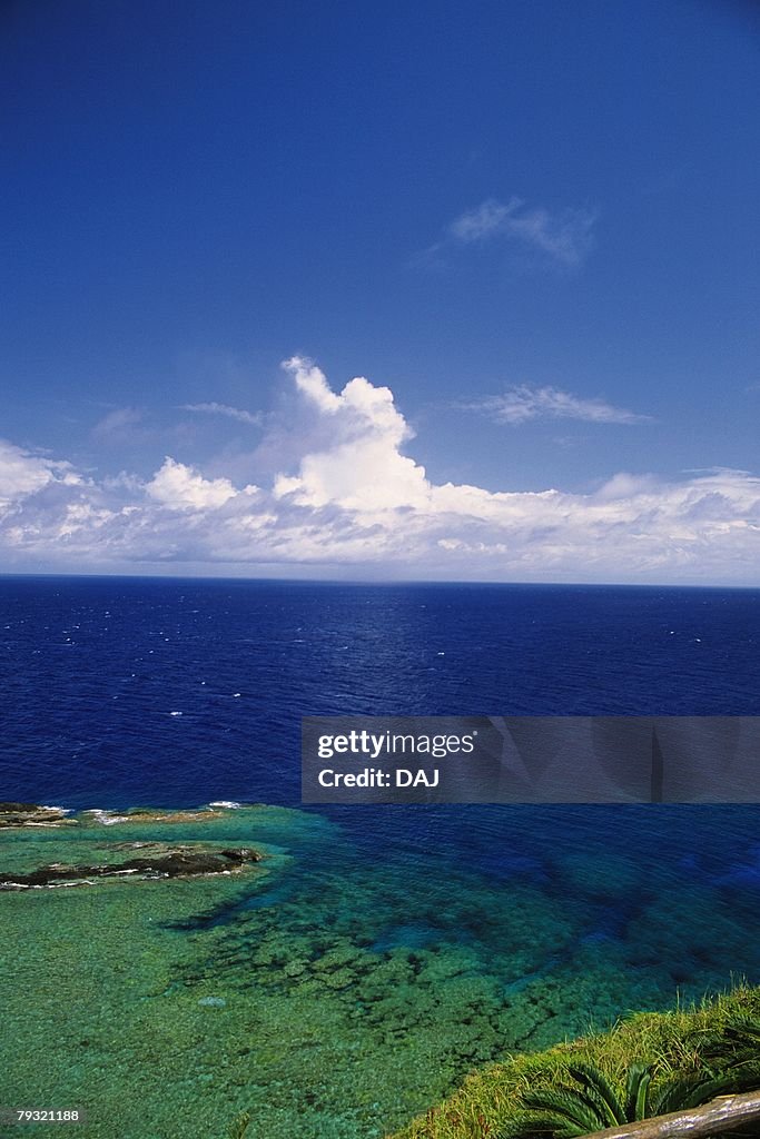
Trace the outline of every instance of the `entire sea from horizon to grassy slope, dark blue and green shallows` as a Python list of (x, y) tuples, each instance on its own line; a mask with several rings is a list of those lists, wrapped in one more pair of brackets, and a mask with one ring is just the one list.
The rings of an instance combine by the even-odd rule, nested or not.
[(0, 893), (0, 1105), (85, 1105), (83, 1139), (243, 1109), (376, 1139), (505, 1051), (760, 981), (757, 808), (303, 810), (299, 784), (307, 714), (759, 714), (760, 591), (6, 577), (0, 631), (0, 800), (269, 804), (0, 833), (0, 872), (167, 830), (268, 855)]

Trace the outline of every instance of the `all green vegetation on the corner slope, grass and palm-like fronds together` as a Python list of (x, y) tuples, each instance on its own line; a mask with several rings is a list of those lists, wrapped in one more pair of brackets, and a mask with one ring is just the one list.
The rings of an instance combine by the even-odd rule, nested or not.
[(757, 1087), (760, 988), (738, 985), (698, 1007), (636, 1013), (607, 1033), (491, 1064), (394, 1139), (569, 1139)]

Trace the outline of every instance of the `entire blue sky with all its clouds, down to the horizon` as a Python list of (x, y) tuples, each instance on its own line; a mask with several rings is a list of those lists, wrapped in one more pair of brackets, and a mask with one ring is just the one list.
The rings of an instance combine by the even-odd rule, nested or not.
[(0, 564), (757, 583), (759, 63), (739, 0), (3, 6)]

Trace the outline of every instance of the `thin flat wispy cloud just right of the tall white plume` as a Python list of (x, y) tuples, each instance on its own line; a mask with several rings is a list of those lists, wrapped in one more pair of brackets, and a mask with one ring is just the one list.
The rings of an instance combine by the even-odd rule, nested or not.
[(458, 407), (480, 411), (497, 423), (524, 424), (531, 419), (580, 419), (590, 424), (644, 424), (652, 416), (615, 408), (604, 400), (583, 400), (558, 387), (530, 387), (521, 384), (501, 395), (489, 395)]

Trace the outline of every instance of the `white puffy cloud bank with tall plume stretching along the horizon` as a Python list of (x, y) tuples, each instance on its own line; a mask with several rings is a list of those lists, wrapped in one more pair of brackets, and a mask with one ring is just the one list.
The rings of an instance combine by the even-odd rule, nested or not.
[(309, 429), (265, 486), (173, 457), (148, 480), (98, 481), (1, 444), (5, 567), (758, 583), (760, 478), (746, 472), (621, 473), (589, 494), (436, 484), (404, 453), (414, 433), (387, 387), (356, 377), (335, 391), (297, 357), (284, 369)]

